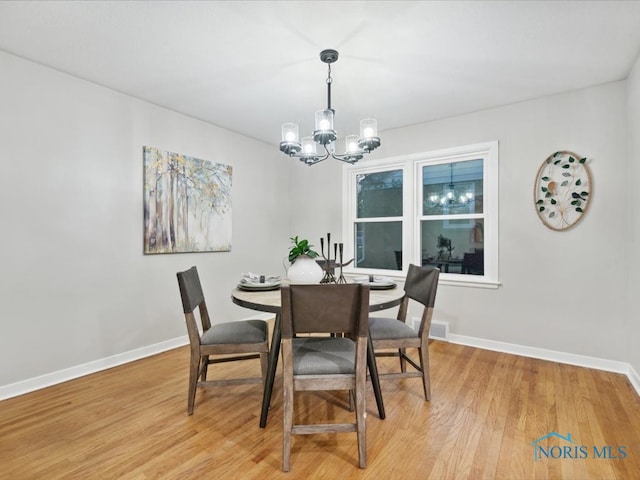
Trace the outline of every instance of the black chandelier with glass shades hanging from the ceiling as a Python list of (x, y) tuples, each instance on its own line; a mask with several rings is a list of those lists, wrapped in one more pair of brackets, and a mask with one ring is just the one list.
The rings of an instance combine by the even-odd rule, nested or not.
[[(378, 122), (373, 118), (360, 121), (360, 136), (347, 135), (345, 137), (345, 153), (335, 152), (335, 141), (338, 132), (333, 128), (335, 110), (331, 108), (331, 64), (338, 61), (336, 50), (323, 50), (320, 60), (328, 65), (327, 75), (327, 108), (315, 114), (315, 130), (310, 137), (299, 140), (298, 125), (285, 123), (282, 125), (282, 141), (280, 151), (290, 157), (299, 158), (307, 165), (315, 165), (326, 160), (329, 156), (347, 163), (356, 163), (365, 153), (370, 153), (380, 146), (378, 138)], [(318, 153), (318, 145), (324, 148), (324, 153)]]

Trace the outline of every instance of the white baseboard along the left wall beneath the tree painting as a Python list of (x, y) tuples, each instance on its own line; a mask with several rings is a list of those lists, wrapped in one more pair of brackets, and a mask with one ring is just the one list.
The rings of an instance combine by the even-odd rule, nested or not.
[(140, 360), (141, 358), (166, 352), (167, 350), (181, 347), (188, 343), (189, 338), (184, 335), (182, 337), (173, 338), (154, 345), (148, 345), (129, 352), (119, 353), (111, 357), (101, 358), (82, 365), (76, 365), (75, 367), (65, 368), (64, 370), (58, 370), (57, 372), (47, 373), (39, 377), (29, 378), (9, 385), (3, 385), (0, 386), (0, 400), (17, 397), (18, 395), (50, 387), (51, 385), (73, 380), (74, 378), (83, 377), (101, 370), (117, 367), (123, 363)]

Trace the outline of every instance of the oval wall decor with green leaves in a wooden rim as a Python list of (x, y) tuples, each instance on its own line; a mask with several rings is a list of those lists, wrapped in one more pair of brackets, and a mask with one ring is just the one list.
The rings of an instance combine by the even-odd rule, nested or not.
[(580, 221), (591, 198), (586, 157), (563, 150), (550, 155), (538, 170), (533, 190), (538, 217), (552, 230), (567, 230)]

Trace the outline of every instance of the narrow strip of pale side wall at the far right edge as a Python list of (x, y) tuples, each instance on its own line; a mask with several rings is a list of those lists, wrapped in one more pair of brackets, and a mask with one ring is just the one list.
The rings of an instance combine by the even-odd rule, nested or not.
[[(629, 362), (640, 375), (640, 219), (637, 205), (640, 205), (640, 57), (627, 79), (627, 96), (629, 105), (629, 168), (628, 172), (628, 221), (629, 221), (629, 310), (628, 350)], [(638, 377), (640, 384), (640, 377)]]

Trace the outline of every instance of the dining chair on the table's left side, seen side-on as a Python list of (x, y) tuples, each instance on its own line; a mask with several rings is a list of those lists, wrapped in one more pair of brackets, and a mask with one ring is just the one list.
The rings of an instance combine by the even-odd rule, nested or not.
[[(187, 412), (191, 415), (193, 414), (197, 387), (262, 383), (264, 381), (269, 356), (269, 329), (264, 320), (241, 320), (212, 324), (197, 268), (194, 266), (184, 272), (178, 272), (177, 276), (189, 334), (189, 344), (191, 345), (187, 401)], [(198, 315), (196, 315), (196, 309)], [(202, 333), (198, 329), (197, 316), (200, 317)], [(211, 358), (211, 355), (216, 355), (216, 357)], [(207, 367), (211, 364), (255, 358), (260, 358), (262, 372), (260, 377), (207, 380)]]

